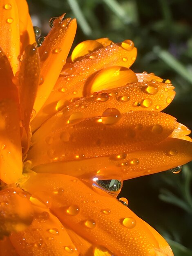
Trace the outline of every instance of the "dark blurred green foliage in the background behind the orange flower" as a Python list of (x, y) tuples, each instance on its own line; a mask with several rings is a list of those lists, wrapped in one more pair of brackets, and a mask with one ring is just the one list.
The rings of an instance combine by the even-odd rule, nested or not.
[[(74, 45), (101, 37), (134, 41), (135, 72), (170, 79), (176, 97), (166, 108), (192, 129), (192, 1), (190, 0), (28, 0), (36, 24), (47, 34), (49, 19), (67, 13), (77, 18)], [(38, 18), (37, 18), (38, 17)], [(190, 168), (191, 167), (191, 168)], [(176, 256), (192, 255), (192, 166), (140, 177), (124, 183), (121, 196), (129, 207), (171, 242)], [(185, 247), (183, 247), (183, 244)]]

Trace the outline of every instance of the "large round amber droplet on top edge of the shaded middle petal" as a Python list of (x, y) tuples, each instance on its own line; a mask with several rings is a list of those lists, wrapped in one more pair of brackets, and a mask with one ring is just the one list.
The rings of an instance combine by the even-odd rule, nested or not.
[(116, 108), (107, 108), (101, 117), (103, 124), (115, 124), (121, 119), (121, 113)]

